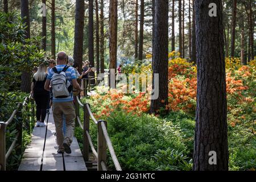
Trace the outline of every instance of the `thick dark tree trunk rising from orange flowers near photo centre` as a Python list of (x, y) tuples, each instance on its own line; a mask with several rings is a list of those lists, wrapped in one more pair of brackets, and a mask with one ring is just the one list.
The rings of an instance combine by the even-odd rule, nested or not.
[[(151, 100), (150, 112), (158, 113), (168, 105), (168, 0), (155, 1), (155, 42), (153, 55), (152, 89), (159, 90), (159, 97)], [(159, 86), (154, 85), (154, 73), (159, 74)]]

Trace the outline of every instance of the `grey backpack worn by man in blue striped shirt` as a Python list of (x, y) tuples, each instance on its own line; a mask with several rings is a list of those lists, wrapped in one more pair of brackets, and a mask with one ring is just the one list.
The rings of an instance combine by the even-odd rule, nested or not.
[(69, 67), (65, 65), (62, 71), (58, 72), (57, 68), (52, 68), (54, 72), (51, 78), (52, 85), (52, 94), (55, 98), (65, 98), (68, 97), (72, 92), (72, 84), (69, 82), (65, 71), (67, 71)]

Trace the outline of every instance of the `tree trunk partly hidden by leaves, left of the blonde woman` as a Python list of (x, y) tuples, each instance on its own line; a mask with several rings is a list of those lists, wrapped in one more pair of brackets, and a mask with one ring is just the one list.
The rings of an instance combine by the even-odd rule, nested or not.
[[(26, 38), (30, 38), (30, 11), (28, 9), (28, 0), (20, 0), (21, 17), (24, 18), (23, 23), (26, 23)], [(26, 18), (25, 18), (26, 17)], [(22, 71), (20, 89), (22, 92), (30, 93), (31, 86), (31, 71)]]

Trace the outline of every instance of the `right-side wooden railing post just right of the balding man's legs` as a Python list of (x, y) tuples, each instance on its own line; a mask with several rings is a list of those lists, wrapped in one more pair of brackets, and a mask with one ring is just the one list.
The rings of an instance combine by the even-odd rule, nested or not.
[(89, 160), (89, 139), (86, 135), (86, 131), (89, 132), (90, 129), (90, 115), (88, 112), (88, 109), (86, 107), (86, 104), (84, 104), (84, 147), (82, 151), (82, 156), (84, 157), (85, 161)]

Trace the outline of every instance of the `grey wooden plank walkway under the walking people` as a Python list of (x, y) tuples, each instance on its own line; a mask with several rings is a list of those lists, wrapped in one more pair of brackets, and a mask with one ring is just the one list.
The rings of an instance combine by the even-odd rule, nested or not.
[(47, 127), (34, 127), (32, 142), (24, 151), (19, 171), (87, 171), (77, 139), (73, 138), (71, 154), (58, 154), (54, 133), (51, 113)]

